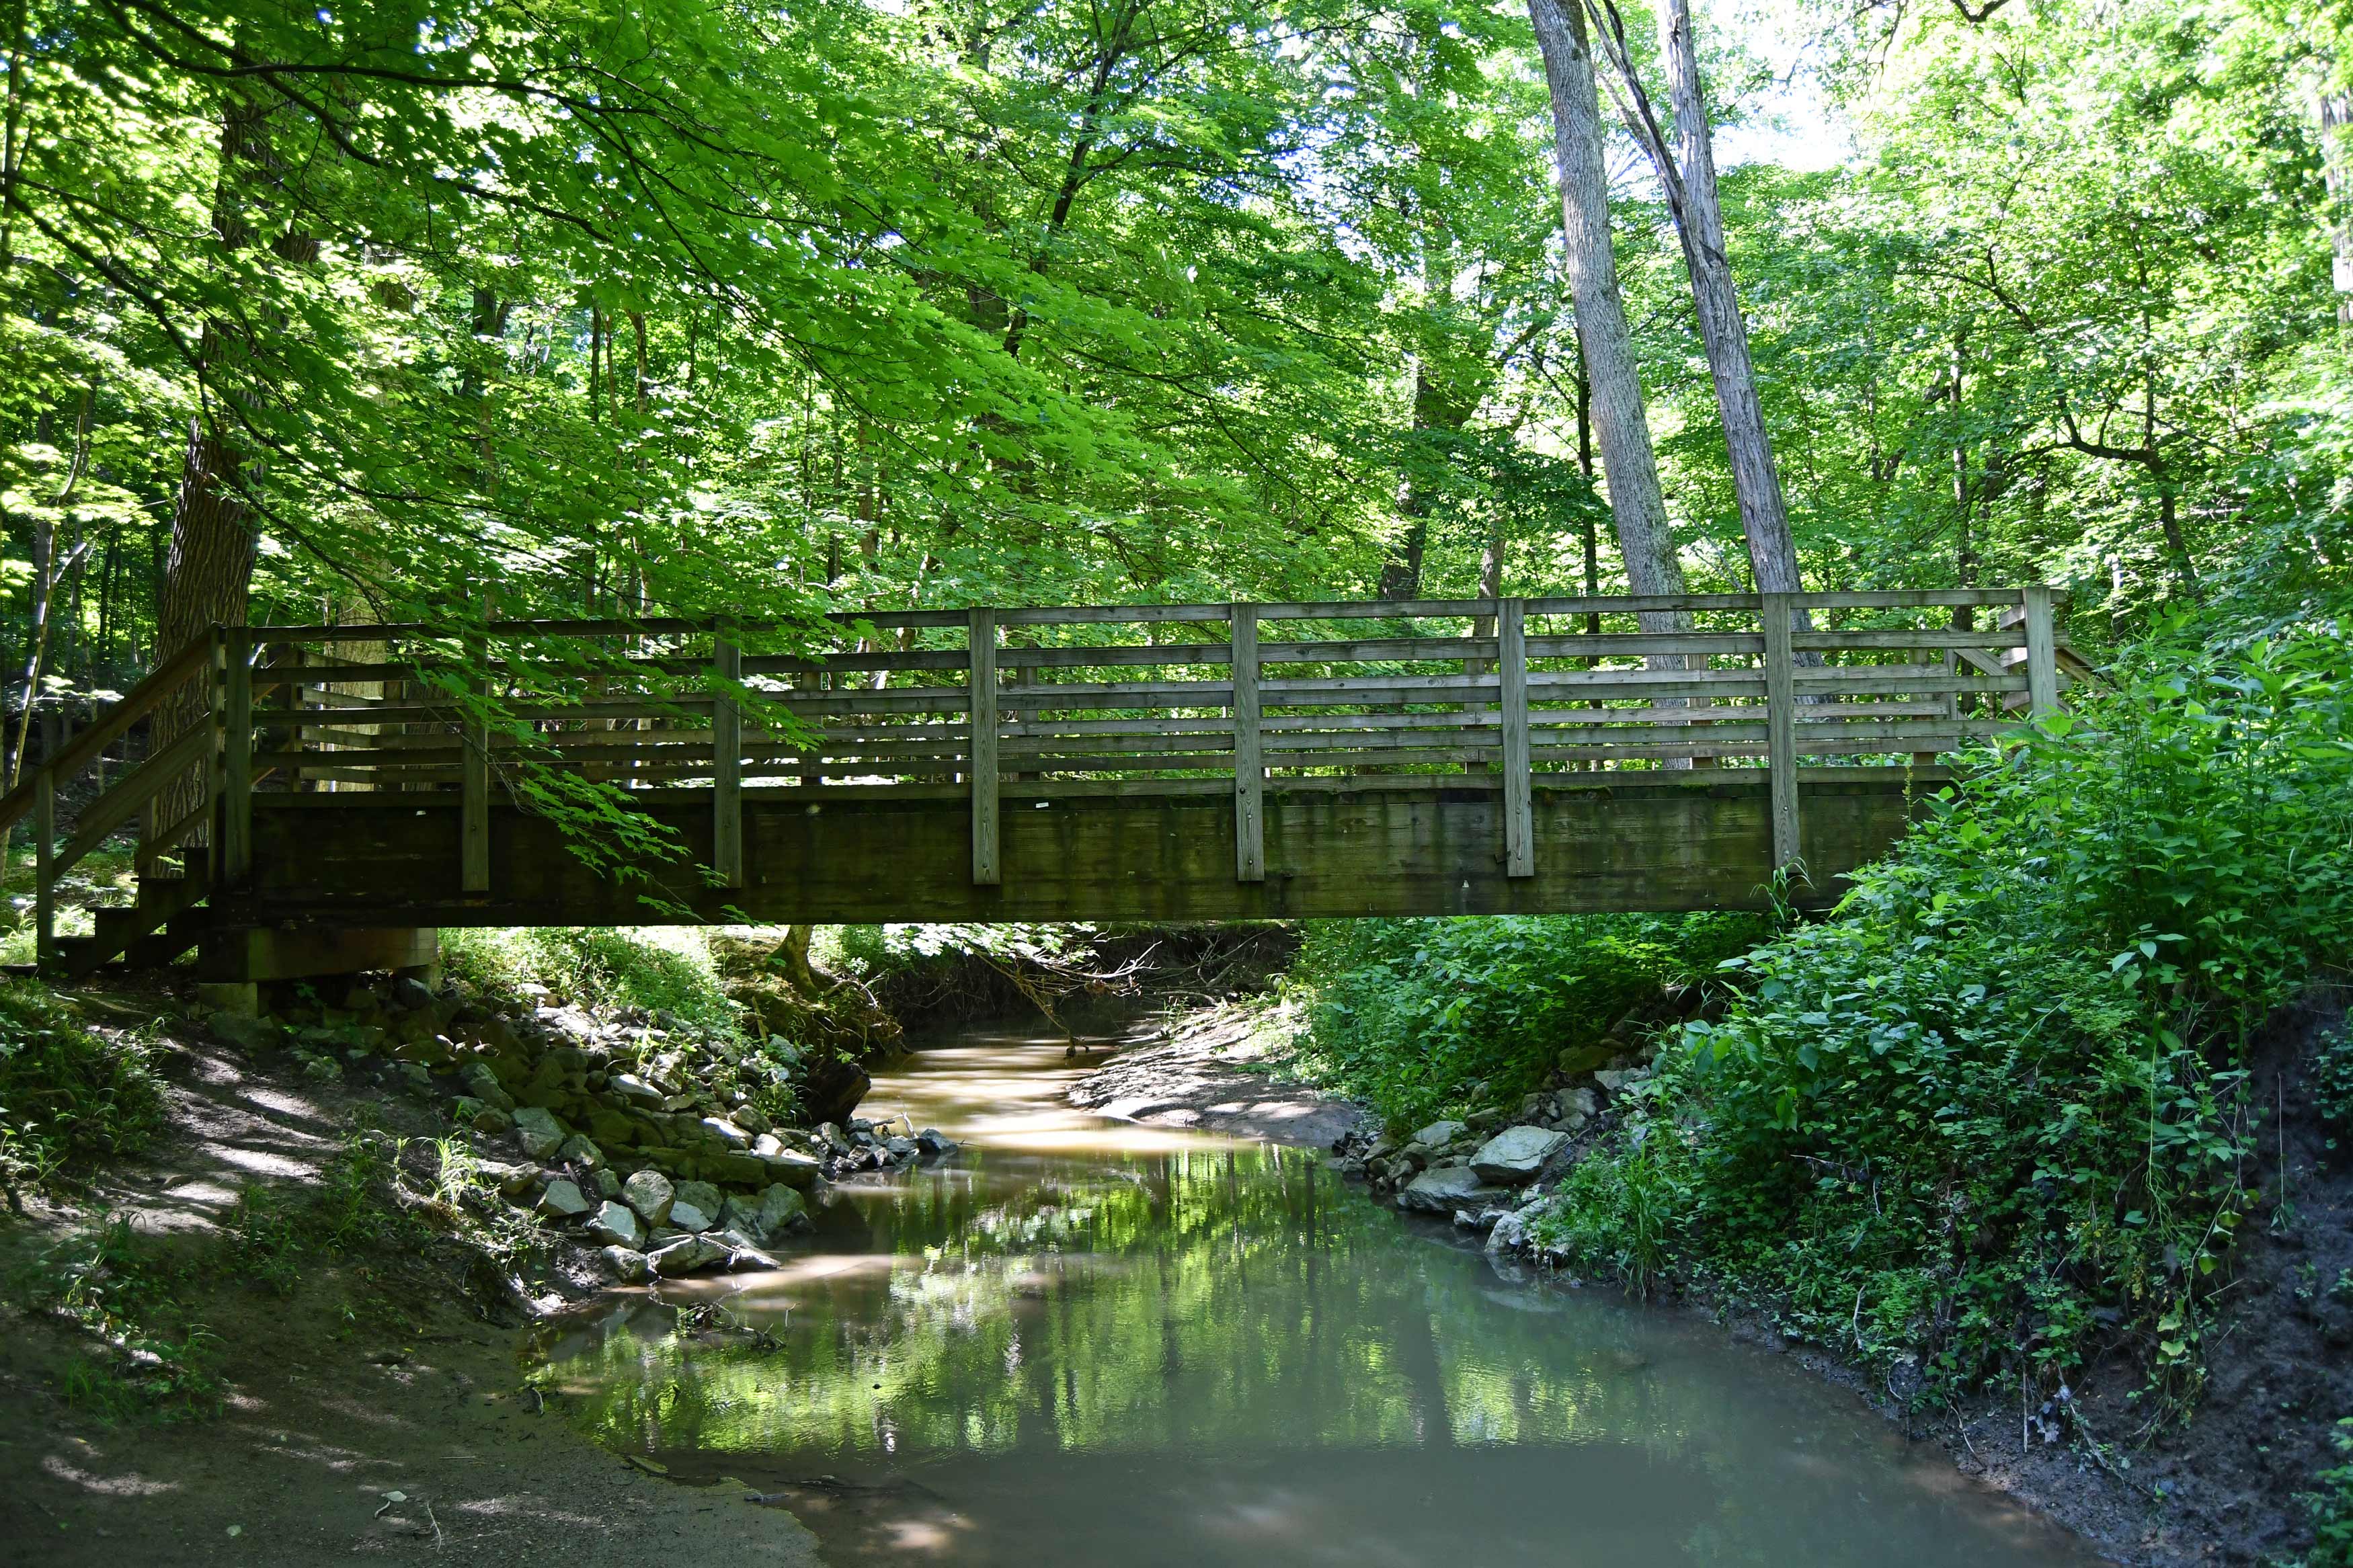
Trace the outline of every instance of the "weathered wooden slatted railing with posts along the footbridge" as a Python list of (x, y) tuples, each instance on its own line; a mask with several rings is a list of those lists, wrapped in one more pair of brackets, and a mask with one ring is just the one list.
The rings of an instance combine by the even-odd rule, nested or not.
[(1788, 863), (1802, 759), (1915, 769), (2054, 705), (2054, 604), (2021, 588), (546, 621), (475, 628), (471, 649), (445, 625), (231, 628), (221, 858), (231, 877), (249, 863), (254, 790), (454, 790), (478, 889), (494, 792), (569, 773), (708, 790), (722, 882), (741, 877), (746, 792), (969, 797), (984, 884), (1007, 795), (1231, 792), (1252, 882), (1268, 790), (1445, 783), (1499, 790), (1506, 867), (1534, 875), (1537, 788), (1762, 769)]

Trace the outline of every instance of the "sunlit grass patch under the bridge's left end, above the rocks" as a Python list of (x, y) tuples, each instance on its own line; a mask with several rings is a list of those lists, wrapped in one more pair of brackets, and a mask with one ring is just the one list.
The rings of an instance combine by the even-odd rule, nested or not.
[(527, 985), (544, 985), (581, 1006), (668, 1011), (725, 1037), (739, 1027), (739, 1009), (694, 929), (452, 929), (442, 933), (442, 961), (452, 976), (487, 994), (513, 997)]

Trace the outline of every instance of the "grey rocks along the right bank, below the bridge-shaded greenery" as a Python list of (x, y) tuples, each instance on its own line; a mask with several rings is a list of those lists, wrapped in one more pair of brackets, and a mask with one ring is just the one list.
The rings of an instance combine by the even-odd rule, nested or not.
[[(1527, 1218), (1577, 1164), (1609, 1103), (1649, 1077), (1657, 1030), (1689, 1016), (1697, 987), (1666, 987), (1628, 1011), (1598, 1046), (1562, 1051), (1544, 1086), (1515, 1107), (1482, 1105), (1405, 1138), (1355, 1131), (1339, 1138), (1341, 1173), (1362, 1178), (1407, 1213), (1449, 1215), (1487, 1232), (1489, 1251), (1527, 1251)], [(1485, 1084), (1473, 1084), (1473, 1095)]]

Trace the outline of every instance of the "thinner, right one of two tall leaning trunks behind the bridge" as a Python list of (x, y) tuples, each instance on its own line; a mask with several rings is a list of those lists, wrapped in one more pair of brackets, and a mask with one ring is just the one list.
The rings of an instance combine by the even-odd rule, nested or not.
[(1666, 0), (1659, 7), (1659, 54), (1666, 56), (1666, 85), (1675, 108), (1675, 169), (1668, 181), (1671, 190), (1682, 188), (1675, 202), (1675, 233), (1682, 235), (1699, 336), (1708, 348), (1715, 407), (1725, 421), (1725, 447), (1732, 451), (1732, 489), (1741, 505), (1741, 531), (1748, 534), (1748, 564), (1760, 592), (1800, 592), (1798, 541), (1788, 531), (1781, 475), (1774, 470), (1755, 364), (1748, 360), (1748, 324), (1741, 320), (1732, 261), (1725, 256), (1725, 214), (1715, 200), (1715, 150), (1708, 143), (1689, 0)]

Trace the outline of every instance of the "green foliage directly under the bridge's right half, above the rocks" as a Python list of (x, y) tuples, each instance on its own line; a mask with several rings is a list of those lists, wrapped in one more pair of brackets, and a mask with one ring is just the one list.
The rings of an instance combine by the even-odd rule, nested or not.
[(1299, 1067), (1391, 1126), (1513, 1100), (1661, 985), (1762, 936), (1744, 914), (1339, 919), (1308, 926)]

